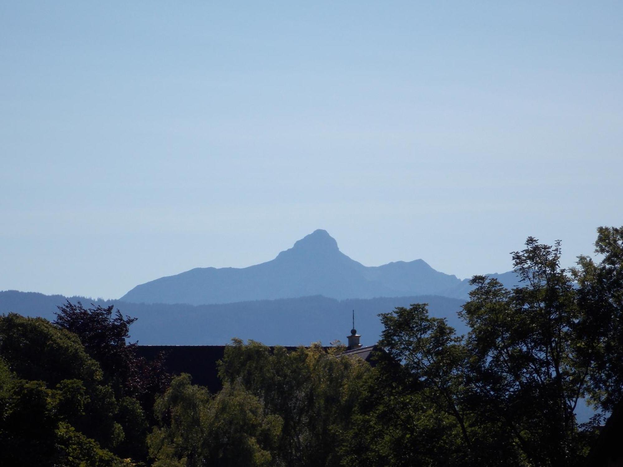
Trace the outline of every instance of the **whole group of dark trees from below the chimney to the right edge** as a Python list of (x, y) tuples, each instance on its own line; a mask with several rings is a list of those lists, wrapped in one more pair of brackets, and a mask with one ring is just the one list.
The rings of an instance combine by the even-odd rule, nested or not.
[(561, 248), (529, 237), (513, 253), (520, 286), (474, 276), (458, 336), (426, 304), (381, 314), (391, 362), (356, 409), (341, 451), (359, 465), (581, 465), (596, 416), (579, 425), (587, 394), (607, 410), (623, 379), (623, 229), (600, 228), (600, 263), (560, 266)]

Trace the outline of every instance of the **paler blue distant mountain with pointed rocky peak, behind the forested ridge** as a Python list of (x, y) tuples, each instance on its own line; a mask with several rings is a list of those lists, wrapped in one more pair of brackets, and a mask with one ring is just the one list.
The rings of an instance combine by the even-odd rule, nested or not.
[(133, 303), (217, 304), (322, 295), (348, 298), (442, 295), (466, 298), (468, 281), (423, 260), (366, 267), (344, 253), (326, 230), (315, 230), (269, 262), (247, 268), (195, 268), (130, 290)]

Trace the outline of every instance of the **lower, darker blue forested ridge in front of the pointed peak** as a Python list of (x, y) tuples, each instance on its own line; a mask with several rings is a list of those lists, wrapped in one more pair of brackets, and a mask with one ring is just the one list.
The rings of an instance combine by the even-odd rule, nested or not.
[(0, 291), (0, 314), (19, 313), (53, 321), (57, 306), (66, 300), (88, 306), (113, 304), (124, 315), (138, 318), (130, 327), (131, 341), (141, 345), (224, 345), (232, 337), (253, 339), (267, 345), (309, 345), (335, 339), (346, 342), (350, 334), (351, 311), (364, 346), (378, 341), (383, 326), (379, 313), (396, 306), (429, 303), (431, 316), (447, 318), (448, 323), (465, 332), (457, 316), (464, 300), (441, 296), (336, 300), (323, 296), (257, 300), (210, 305), (145, 304), (123, 301), (91, 300), (83, 297), (43, 295), (16, 290)]

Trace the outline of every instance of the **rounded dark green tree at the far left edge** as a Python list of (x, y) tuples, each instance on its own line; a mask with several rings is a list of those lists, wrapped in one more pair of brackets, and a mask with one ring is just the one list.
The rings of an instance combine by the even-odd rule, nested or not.
[[(0, 317), (0, 352), (0, 449), (16, 465), (70, 465), (67, 450), (88, 465), (120, 461), (109, 452), (120, 453), (125, 438), (118, 401), (77, 336), (45, 319), (9, 314)], [(88, 446), (75, 444), (83, 442)]]

